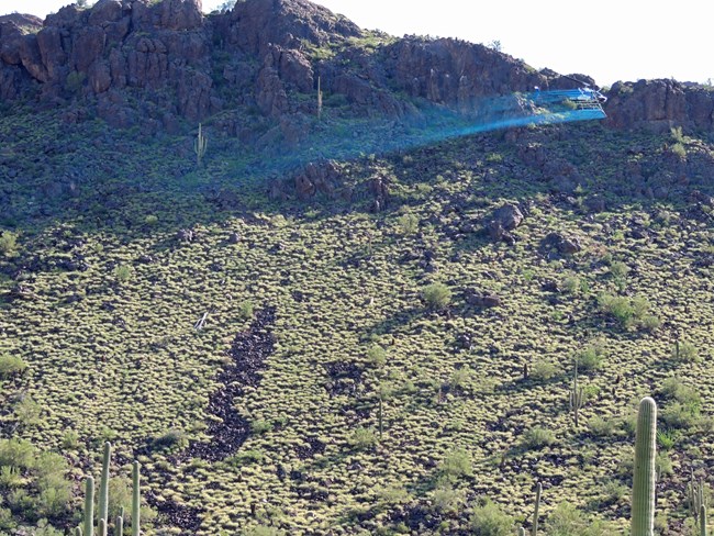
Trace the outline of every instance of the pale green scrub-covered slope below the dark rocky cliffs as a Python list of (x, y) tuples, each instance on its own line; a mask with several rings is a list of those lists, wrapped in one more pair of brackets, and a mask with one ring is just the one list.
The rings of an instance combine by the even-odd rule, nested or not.
[(652, 395), (658, 529), (690, 534), (711, 143), (495, 132), (319, 164), (335, 191), (298, 200), (207, 132), (197, 168), (190, 136), (0, 120), (0, 531), (75, 526), (111, 440), (113, 507), (137, 458), (146, 534), (515, 534), (536, 482), (543, 533), (622, 534)]

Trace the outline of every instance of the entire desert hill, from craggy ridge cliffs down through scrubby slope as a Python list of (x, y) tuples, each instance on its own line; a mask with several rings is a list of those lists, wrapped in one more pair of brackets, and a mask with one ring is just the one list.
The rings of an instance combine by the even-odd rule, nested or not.
[(712, 93), (462, 129), (574, 83), (303, 0), (0, 18), (0, 534), (77, 526), (111, 442), (147, 536), (622, 536), (652, 395), (657, 534), (690, 536)]

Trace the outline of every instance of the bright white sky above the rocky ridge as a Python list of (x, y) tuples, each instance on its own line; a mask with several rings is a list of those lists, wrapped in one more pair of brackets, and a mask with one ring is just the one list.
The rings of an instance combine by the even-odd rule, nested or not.
[[(91, 2), (91, 0), (90, 0)], [(68, 0), (0, 0), (0, 14), (44, 16)], [(203, 0), (211, 11), (223, 0)], [(365, 29), (501, 42), (535, 68), (639, 78), (714, 79), (712, 0), (317, 0)]]

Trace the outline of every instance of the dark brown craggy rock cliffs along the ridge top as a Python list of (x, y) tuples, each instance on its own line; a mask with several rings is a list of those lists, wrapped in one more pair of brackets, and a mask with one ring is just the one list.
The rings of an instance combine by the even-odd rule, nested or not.
[[(247, 0), (208, 16), (200, 0), (99, 0), (44, 22), (0, 18), (0, 97), (65, 108), (67, 121), (97, 113), (177, 132), (180, 119), (226, 112), (233, 134), (246, 113), (299, 131), (319, 78), (327, 104), (391, 118), (415, 98), (468, 112), (483, 97), (576, 85), (482, 45), (365, 32), (308, 0)], [(616, 127), (709, 130), (713, 96), (669, 80), (617, 83), (607, 112)]]

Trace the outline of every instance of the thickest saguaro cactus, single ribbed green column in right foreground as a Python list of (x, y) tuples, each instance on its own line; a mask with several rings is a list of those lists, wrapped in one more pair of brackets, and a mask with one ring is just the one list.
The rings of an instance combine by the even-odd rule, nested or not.
[(655, 535), (655, 457), (657, 454), (657, 403), (644, 398), (635, 433), (632, 536)]

